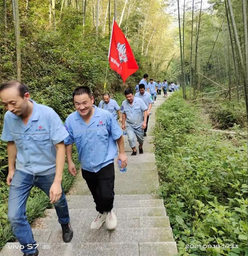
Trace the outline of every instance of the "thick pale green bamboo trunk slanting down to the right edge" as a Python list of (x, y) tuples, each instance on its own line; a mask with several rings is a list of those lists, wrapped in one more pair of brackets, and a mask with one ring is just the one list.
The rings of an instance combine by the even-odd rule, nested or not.
[[(239, 62), (240, 62), (240, 66), (241, 66), (241, 72), (242, 72), (242, 79), (243, 79), (243, 88), (244, 88), (244, 94), (245, 94), (245, 100), (246, 100), (246, 114), (247, 114), (247, 120), (248, 120), (248, 96), (247, 96), (247, 80), (246, 80), (246, 70), (245, 70), (245, 65), (244, 65), (244, 61), (243, 61), (243, 56), (241, 53), (241, 47), (240, 47), (240, 43), (238, 40), (238, 33), (237, 33), (237, 28), (236, 28), (236, 23), (235, 23), (235, 19), (234, 19), (234, 14), (233, 14), (233, 10), (231, 7), (231, 0), (227, 0), (228, 3), (228, 8), (229, 8), (229, 13), (230, 13), (230, 17), (231, 17), (231, 24), (233, 27), (233, 31), (234, 31), (234, 39), (235, 39), (235, 43), (236, 43), (236, 47), (238, 50), (238, 58), (239, 58)], [(244, 33), (247, 33), (244, 31)]]

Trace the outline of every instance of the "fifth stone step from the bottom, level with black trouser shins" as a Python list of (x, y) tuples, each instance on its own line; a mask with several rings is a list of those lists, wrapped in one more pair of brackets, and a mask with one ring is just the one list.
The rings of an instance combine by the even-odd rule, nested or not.
[[(79, 201), (67, 200), (70, 209), (89, 209), (95, 208), (93, 198), (81, 199)], [(164, 202), (162, 199), (157, 200), (122, 200), (114, 201), (114, 208), (139, 208), (139, 207), (163, 207)]]

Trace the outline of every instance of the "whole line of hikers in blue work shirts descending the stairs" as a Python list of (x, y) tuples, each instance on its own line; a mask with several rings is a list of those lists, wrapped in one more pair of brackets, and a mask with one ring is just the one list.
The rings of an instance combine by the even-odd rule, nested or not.
[(123, 131), (132, 148), (131, 156), (137, 155), (136, 138), (139, 154), (143, 154), (152, 105), (157, 95), (161, 95), (161, 89), (164, 97), (167, 97), (166, 80), (161, 84), (150, 79), (147, 84), (147, 79), (148, 74), (144, 74), (135, 95), (131, 88), (124, 91), (126, 100), (121, 107), (110, 98), (109, 93), (103, 94), (103, 100), (96, 107), (88, 86), (75, 88), (72, 92), (75, 111), (64, 124), (52, 108), (30, 98), (26, 84), (7, 81), (0, 85), (0, 100), (7, 110), (1, 140), (7, 141), (7, 184), (10, 185), (8, 219), (24, 256), (38, 255), (36, 241), (26, 218), (26, 202), (33, 186), (43, 190), (50, 203), (54, 204), (63, 241), (72, 240), (73, 230), (62, 188), (62, 175), (66, 156), (68, 171), (76, 176), (72, 159), (73, 144), (78, 151), (83, 179), (98, 212), (91, 229), (99, 229), (103, 223), (110, 230), (117, 227), (117, 217), (112, 210), (114, 159), (121, 161), (122, 168), (126, 167)]

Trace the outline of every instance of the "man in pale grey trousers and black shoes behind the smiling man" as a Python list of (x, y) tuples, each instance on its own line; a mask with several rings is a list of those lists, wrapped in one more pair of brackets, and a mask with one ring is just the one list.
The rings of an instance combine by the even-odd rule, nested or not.
[[(131, 156), (137, 155), (135, 136), (139, 143), (139, 153), (143, 154), (144, 129), (147, 121), (147, 106), (145, 102), (134, 97), (134, 92), (128, 88), (124, 92), (126, 100), (122, 102), (122, 129), (126, 129), (129, 145), (133, 150)], [(126, 121), (126, 125), (125, 125)]]

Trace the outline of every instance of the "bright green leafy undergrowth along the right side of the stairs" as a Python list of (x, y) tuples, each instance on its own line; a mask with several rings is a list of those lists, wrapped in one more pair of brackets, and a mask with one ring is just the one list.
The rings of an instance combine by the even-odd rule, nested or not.
[(179, 254), (247, 255), (246, 141), (203, 132), (199, 111), (178, 93), (156, 117), (160, 194)]

